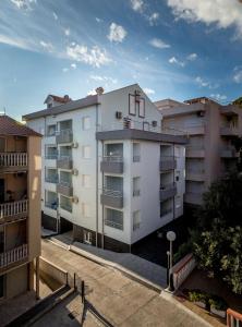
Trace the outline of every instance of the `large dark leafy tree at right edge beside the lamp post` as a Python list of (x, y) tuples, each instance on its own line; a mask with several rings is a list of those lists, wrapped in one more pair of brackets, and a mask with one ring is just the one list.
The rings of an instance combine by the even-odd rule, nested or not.
[(191, 231), (198, 266), (242, 293), (242, 177), (233, 173), (211, 184)]

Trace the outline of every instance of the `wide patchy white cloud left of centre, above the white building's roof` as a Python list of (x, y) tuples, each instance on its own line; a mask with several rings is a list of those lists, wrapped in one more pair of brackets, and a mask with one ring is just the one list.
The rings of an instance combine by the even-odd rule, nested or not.
[(71, 45), (66, 47), (66, 55), (72, 60), (84, 62), (97, 68), (112, 61), (106, 50), (101, 50), (97, 46), (88, 49), (86, 46), (80, 46), (76, 44)]

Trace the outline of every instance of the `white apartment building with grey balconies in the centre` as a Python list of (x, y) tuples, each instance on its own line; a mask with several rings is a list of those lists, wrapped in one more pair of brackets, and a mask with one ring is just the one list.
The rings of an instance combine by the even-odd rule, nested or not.
[(137, 84), (58, 98), (23, 117), (44, 134), (45, 228), (130, 252), (183, 214), (186, 138), (162, 134), (161, 114)]

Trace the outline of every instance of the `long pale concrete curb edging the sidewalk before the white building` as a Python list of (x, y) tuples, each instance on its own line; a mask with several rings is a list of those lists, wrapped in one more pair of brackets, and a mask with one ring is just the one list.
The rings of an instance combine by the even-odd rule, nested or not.
[(98, 265), (117, 269), (120, 272), (122, 272), (124, 276), (131, 278), (134, 281), (137, 281), (137, 282), (144, 284), (145, 287), (156, 291), (157, 293), (160, 293), (162, 291), (162, 288), (160, 286), (158, 286), (156, 283), (153, 283), (152, 281), (147, 280), (146, 278), (143, 278), (143, 277), (136, 275), (135, 272), (133, 272), (129, 269), (123, 268), (119, 264), (113, 264), (110, 261), (102, 259), (102, 258), (98, 257), (97, 255), (90, 254), (87, 251), (81, 250), (81, 249), (78, 249), (77, 246), (74, 246), (74, 245), (70, 245), (70, 251), (75, 253), (75, 254), (82, 255), (83, 257), (85, 257), (85, 258), (87, 258), (87, 259), (89, 259), (89, 261), (92, 261), (92, 262), (94, 262)]

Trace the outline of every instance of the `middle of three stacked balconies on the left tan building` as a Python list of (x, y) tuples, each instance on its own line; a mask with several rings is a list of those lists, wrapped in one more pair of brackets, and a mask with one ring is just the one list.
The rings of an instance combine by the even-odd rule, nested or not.
[(0, 223), (27, 217), (28, 199), (0, 204)]

